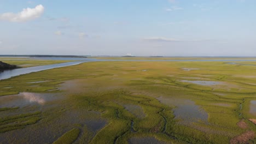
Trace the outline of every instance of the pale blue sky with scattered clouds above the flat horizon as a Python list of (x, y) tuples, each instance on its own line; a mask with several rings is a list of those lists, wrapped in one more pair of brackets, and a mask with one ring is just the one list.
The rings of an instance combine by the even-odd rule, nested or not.
[(255, 0), (0, 0), (0, 55), (256, 56)]

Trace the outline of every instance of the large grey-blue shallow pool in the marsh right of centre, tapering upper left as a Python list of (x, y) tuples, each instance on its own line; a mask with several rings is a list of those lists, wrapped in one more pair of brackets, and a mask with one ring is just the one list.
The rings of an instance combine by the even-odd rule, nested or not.
[(189, 99), (177, 99), (159, 97), (157, 98), (161, 103), (176, 106), (173, 109), (173, 114), (176, 119), (182, 119), (183, 122), (206, 122), (208, 114), (199, 105), (196, 105), (194, 101)]

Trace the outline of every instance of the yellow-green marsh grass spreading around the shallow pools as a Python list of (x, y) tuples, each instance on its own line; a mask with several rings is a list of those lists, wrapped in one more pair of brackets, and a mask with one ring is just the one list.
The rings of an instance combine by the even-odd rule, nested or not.
[[(26, 61), (23, 63), (26, 64)], [(181, 68), (199, 70), (184, 71)], [(150, 70), (141, 71), (143, 69)], [(254, 99), (256, 89), (248, 83), (256, 83), (256, 77), (252, 78), (255, 70), (253, 66), (224, 62), (91, 62), (16, 76), (0, 81), (1, 96), (19, 92), (49, 93), (49, 90), (56, 89), (50, 93), (63, 93), (67, 98), (55, 102), (60, 107), (54, 107), (51, 110), (53, 113), (43, 110), (32, 116), (5, 117), (8, 120), (1, 120), (1, 127), (4, 125), (5, 128), (14, 121), (24, 124), (17, 124), (16, 128), (25, 128), (25, 125), (32, 125), (36, 121), (43, 127), (56, 116), (63, 116), (65, 111), (81, 110), (100, 113), (107, 124), (96, 131), (96, 135), (84, 123), (75, 126), (73, 123), (67, 124), (68, 130), (78, 129), (79, 134), (68, 136), (71, 132), (66, 130), (67, 133), (62, 135), (64, 138), (56, 136), (55, 140), (60, 137), (67, 142), (76, 140), (75, 143), (127, 143), (132, 137), (151, 136), (170, 143), (228, 143), (232, 137), (245, 132), (236, 125), (237, 122), (254, 118), (249, 113), (249, 101)], [(181, 81), (193, 80), (189, 77), (219, 81), (225, 85), (201, 86)], [(78, 79), (73, 85), (81, 91), (70, 89), (67, 92), (60, 88), (63, 82)], [(34, 81), (44, 82), (36, 83), (37, 87), (30, 87), (35, 84), (28, 82)], [(207, 112), (207, 123), (182, 123), (182, 119), (176, 119), (173, 115), (175, 106), (161, 103), (157, 99), (159, 97), (194, 101)], [(145, 117), (137, 117), (126, 110), (124, 104), (138, 105)], [(0, 112), (7, 111), (12, 110)], [(43, 119), (38, 121), (40, 116)], [(30, 123), (26, 123), (28, 120)], [(250, 130), (256, 130), (252, 122), (245, 122)], [(60, 135), (57, 131), (55, 133)]]

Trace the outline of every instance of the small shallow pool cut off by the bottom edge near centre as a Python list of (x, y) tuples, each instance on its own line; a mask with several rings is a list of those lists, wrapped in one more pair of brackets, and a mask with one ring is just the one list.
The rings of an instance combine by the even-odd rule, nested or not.
[(166, 142), (159, 141), (155, 137), (132, 137), (128, 140), (130, 144), (164, 144)]

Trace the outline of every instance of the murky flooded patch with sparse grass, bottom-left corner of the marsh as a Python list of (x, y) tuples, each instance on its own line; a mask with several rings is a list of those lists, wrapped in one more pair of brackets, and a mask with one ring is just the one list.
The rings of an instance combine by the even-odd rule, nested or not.
[[(49, 111), (45, 112), (48, 113)], [(51, 110), (50, 114), (55, 116), (50, 119), (46, 118), (47, 121), (43, 118), (37, 124), (27, 126), (24, 129), (2, 133), (0, 135), (0, 143), (24, 143), (24, 141), (26, 141), (25, 143), (53, 143), (74, 127), (80, 127), (80, 129), (87, 127), (90, 130), (90, 136), (93, 137), (98, 130), (107, 124), (106, 120), (100, 118), (101, 113), (96, 111), (61, 111), (60, 115), (58, 110)]]

